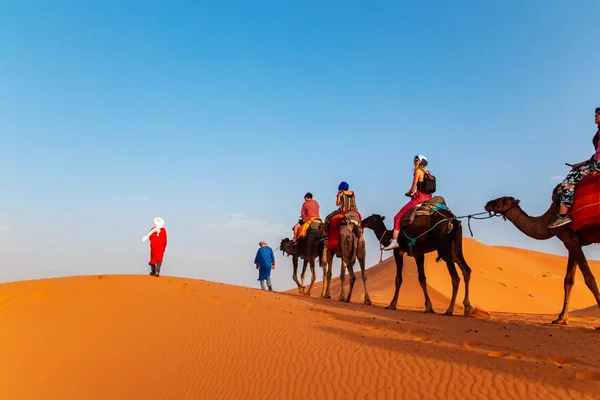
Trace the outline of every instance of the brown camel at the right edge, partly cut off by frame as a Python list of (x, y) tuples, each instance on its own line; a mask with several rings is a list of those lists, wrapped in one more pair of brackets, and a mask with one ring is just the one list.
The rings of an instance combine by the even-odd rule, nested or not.
[[(598, 285), (596, 278), (592, 274), (592, 270), (588, 265), (585, 254), (583, 254), (583, 246), (588, 246), (592, 243), (600, 243), (600, 226), (595, 225), (578, 232), (574, 232), (568, 225), (550, 229), (548, 225), (558, 213), (559, 196), (558, 186), (552, 194), (552, 204), (550, 208), (539, 217), (530, 217), (519, 206), (520, 200), (514, 197), (500, 197), (495, 200), (490, 200), (485, 205), (485, 210), (490, 213), (503, 215), (513, 225), (523, 232), (525, 235), (537, 239), (546, 240), (556, 236), (569, 252), (567, 260), (567, 272), (564, 279), (564, 299), (563, 308), (558, 318), (552, 321), (553, 324), (566, 325), (569, 320), (569, 299), (571, 297), (571, 289), (575, 282), (575, 270), (579, 266), (579, 270), (583, 274), (586, 286), (593, 293), (596, 302), (600, 307), (600, 293), (598, 293)], [(575, 192), (577, 193), (577, 191)], [(598, 328), (600, 329), (600, 328)]]

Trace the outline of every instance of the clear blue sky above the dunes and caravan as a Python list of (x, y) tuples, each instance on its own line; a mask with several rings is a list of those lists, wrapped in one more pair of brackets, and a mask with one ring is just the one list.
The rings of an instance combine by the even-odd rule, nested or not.
[[(389, 226), (415, 154), (458, 215), (503, 195), (541, 214), (564, 162), (593, 153), (599, 15), (591, 0), (0, 1), (0, 281), (147, 273), (159, 215), (166, 275), (257, 287), (258, 241), (291, 234), (307, 191), (325, 216), (345, 180)], [(473, 229), (566, 253), (499, 218)], [(276, 257), (275, 289), (293, 287)]]

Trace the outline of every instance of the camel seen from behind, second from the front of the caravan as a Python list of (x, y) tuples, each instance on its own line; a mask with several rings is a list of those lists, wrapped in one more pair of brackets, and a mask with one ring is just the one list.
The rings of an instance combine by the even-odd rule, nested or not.
[[(327, 260), (325, 263), (325, 268), (327, 269), (327, 272), (325, 272), (324, 268), (323, 291), (321, 295), (326, 299), (331, 298), (330, 285), (331, 272), (333, 268), (333, 257), (337, 256), (342, 261), (342, 268), (340, 271), (341, 290), (339, 300), (345, 301), (346, 303), (350, 303), (350, 299), (352, 297), (352, 290), (354, 289), (354, 283), (356, 282), (356, 275), (354, 274), (354, 265), (356, 264), (356, 259), (358, 259), (363, 285), (365, 287), (365, 298), (363, 303), (365, 305), (371, 305), (371, 298), (369, 296), (369, 291), (367, 290), (367, 273), (365, 271), (365, 264), (367, 259), (365, 238), (363, 235), (362, 228), (360, 227), (360, 220), (357, 219), (358, 216), (356, 215), (356, 213), (353, 213), (352, 216), (351, 214), (352, 211), (350, 211), (342, 218), (340, 224), (340, 237), (338, 240), (337, 248), (328, 249), (327, 245), (329, 243), (329, 239), (325, 241), (324, 251), (326, 252)], [(325, 235), (328, 231), (328, 223), (321, 225), (320, 234)], [(348, 268), (348, 273), (350, 275), (350, 288), (348, 290), (348, 296), (345, 295), (344, 290), (344, 284), (346, 280), (346, 268)]]

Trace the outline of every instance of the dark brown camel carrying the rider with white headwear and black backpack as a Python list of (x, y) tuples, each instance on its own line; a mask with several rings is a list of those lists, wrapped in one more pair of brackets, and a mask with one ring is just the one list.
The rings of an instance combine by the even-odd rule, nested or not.
[[(394, 260), (396, 261), (396, 291), (389, 306), (389, 310), (395, 310), (398, 303), (398, 294), (402, 285), (402, 268), (404, 267), (403, 253), (411, 250), (417, 263), (419, 283), (425, 295), (425, 312), (435, 313), (427, 292), (427, 278), (425, 277), (425, 254), (433, 251), (438, 252), (436, 261), (444, 260), (450, 276), (452, 277), (452, 298), (450, 305), (444, 315), (454, 313), (454, 305), (458, 294), (460, 277), (454, 263), (457, 263), (465, 280), (465, 297), (463, 300), (464, 314), (470, 315), (473, 307), (469, 301), (469, 283), (471, 280), (471, 268), (465, 261), (462, 251), (462, 225), (456, 216), (449, 210), (439, 210), (431, 215), (416, 215), (411, 225), (403, 227), (398, 237), (400, 248), (394, 249)], [(363, 220), (363, 227), (372, 229), (379, 240), (380, 245), (388, 245), (392, 240), (393, 231), (387, 230), (383, 222), (385, 217), (373, 214)], [(422, 236), (420, 236), (422, 235)], [(409, 239), (417, 238), (412, 249), (409, 248)]]

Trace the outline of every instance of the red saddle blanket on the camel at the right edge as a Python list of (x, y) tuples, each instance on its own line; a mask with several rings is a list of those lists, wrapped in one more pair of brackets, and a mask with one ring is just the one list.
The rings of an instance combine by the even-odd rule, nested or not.
[(570, 210), (570, 227), (574, 231), (591, 225), (600, 226), (600, 173), (586, 176), (575, 186)]

